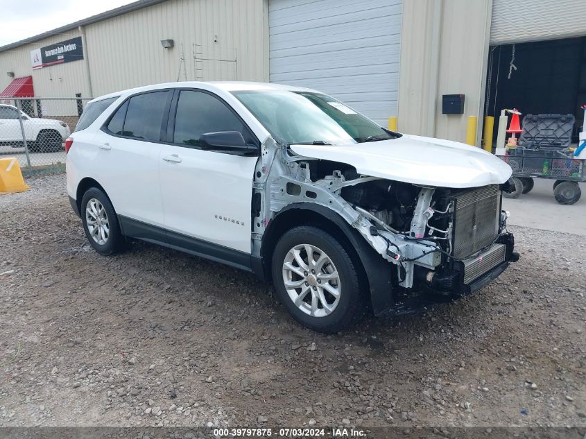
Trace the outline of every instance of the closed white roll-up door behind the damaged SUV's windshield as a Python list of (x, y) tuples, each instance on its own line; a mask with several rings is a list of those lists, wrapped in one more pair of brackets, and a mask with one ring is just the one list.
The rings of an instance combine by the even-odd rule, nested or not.
[(401, 20), (402, 0), (270, 0), (270, 81), (331, 94), (386, 126)]

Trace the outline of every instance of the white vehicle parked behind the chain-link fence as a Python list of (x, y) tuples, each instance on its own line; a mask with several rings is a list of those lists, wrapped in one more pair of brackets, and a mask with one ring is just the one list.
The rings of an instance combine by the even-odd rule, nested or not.
[[(31, 152), (54, 153), (62, 149), (62, 143), (71, 134), (63, 121), (30, 117), (21, 112), (22, 128)], [(18, 109), (14, 105), (0, 105), (0, 145), (22, 148), (22, 130)]]

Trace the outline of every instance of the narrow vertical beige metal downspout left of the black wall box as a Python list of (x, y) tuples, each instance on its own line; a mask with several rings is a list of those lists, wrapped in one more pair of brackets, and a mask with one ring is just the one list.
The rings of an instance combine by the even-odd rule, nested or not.
[(436, 137), (436, 101), (440, 76), (440, 46), (442, 39), (442, 6), (443, 0), (433, 0), (431, 22), (431, 44), (428, 74), (428, 102), (426, 119), (426, 135)]

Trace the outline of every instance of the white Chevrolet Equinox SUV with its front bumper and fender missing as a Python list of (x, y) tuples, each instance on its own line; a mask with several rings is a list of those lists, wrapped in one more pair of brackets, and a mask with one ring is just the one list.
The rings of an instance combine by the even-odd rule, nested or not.
[(320, 332), (466, 295), (519, 257), (506, 163), (311, 89), (130, 89), (91, 101), (65, 147), (71, 206), (101, 255), (142, 239), (252, 271)]

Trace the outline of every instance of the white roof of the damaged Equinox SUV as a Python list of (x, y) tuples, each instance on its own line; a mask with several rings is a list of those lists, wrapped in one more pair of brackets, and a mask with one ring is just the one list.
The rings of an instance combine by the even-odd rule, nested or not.
[(253, 83), (253, 82), (246, 82), (246, 81), (209, 81), (209, 82), (202, 82), (202, 81), (183, 81), (180, 83), (162, 83), (162, 84), (153, 84), (153, 85), (145, 85), (144, 87), (135, 87), (131, 89), (121, 90), (120, 92), (114, 92), (110, 94), (105, 94), (98, 98), (92, 99), (89, 101), (90, 103), (95, 101), (101, 101), (102, 99), (107, 98), (114, 98), (118, 96), (128, 96), (130, 94), (140, 93), (140, 92), (150, 92), (151, 90), (157, 89), (166, 89), (166, 88), (200, 88), (204, 87), (205, 89), (216, 89), (218, 91), (223, 92), (236, 92), (236, 91), (254, 91), (254, 90), (285, 90), (289, 92), (313, 92), (317, 93), (316, 90), (305, 88), (305, 87), (295, 87), (293, 85), (284, 85), (284, 84), (275, 84), (275, 83)]

